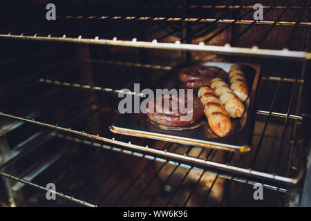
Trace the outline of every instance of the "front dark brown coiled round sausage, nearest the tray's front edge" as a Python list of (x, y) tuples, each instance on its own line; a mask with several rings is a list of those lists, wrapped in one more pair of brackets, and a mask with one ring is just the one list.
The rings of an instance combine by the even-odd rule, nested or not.
[[(164, 105), (164, 99), (168, 99), (169, 105)], [(179, 97), (171, 94), (162, 95), (158, 99), (155, 97), (147, 104), (146, 115), (151, 121), (164, 126), (189, 126), (202, 117), (204, 110), (200, 99), (195, 95), (189, 97), (189, 102), (193, 104), (191, 109), (187, 93)], [(185, 108), (180, 109), (180, 106)]]

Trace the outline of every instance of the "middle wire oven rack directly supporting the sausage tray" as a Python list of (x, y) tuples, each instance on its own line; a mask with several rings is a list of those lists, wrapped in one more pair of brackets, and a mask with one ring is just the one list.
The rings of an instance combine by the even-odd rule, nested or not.
[[(86, 61), (86, 64), (91, 64), (90, 62), (92, 62), (93, 60), (88, 60)], [(95, 61), (96, 62), (96, 61)], [(100, 62), (97, 62), (100, 63)], [(103, 61), (104, 63), (104, 61)], [(118, 63), (118, 61), (115, 62), (106, 62), (106, 64), (108, 63), (108, 65), (124, 65), (123, 63)], [(82, 64), (80, 64), (82, 65)], [(84, 70), (84, 75), (85, 76), (89, 76), (91, 74), (91, 70), (90, 67), (86, 65), (86, 70)], [(129, 64), (125, 64), (127, 66), (129, 66)], [(83, 66), (83, 65), (82, 65)], [(133, 68), (136, 68), (136, 66), (138, 65), (133, 65)], [(147, 65), (147, 64), (140, 64), (138, 67), (139, 68), (153, 68), (153, 67), (159, 67), (157, 65)], [(167, 70), (169, 68), (167, 68), (168, 66), (166, 66), (166, 68), (164, 68), (164, 70)], [(70, 69), (70, 68), (69, 68)], [(163, 69), (161, 69), (163, 70)], [(164, 71), (163, 70), (163, 71)], [(62, 70), (63, 73), (64, 70)], [(164, 75), (162, 75), (163, 77)], [(160, 77), (160, 79), (162, 78)], [(71, 81), (68, 81), (68, 79), (71, 79)], [(272, 79), (270, 81), (270, 79)], [(173, 161), (177, 161), (180, 162), (182, 164), (188, 164), (194, 167), (200, 167), (203, 169), (209, 169), (210, 171), (216, 171), (217, 172), (221, 172), (224, 173), (225, 175), (228, 176), (228, 174), (230, 173), (234, 173), (237, 177), (243, 177), (245, 180), (247, 180), (247, 182), (249, 180), (256, 180), (256, 182), (259, 182), (260, 180), (268, 180), (270, 182), (277, 182), (277, 183), (287, 183), (287, 184), (297, 184), (299, 182), (299, 180), (301, 179), (302, 175), (303, 175), (303, 167), (300, 165), (295, 165), (292, 166), (292, 162), (296, 162), (297, 159), (301, 159), (301, 154), (303, 151), (303, 141), (299, 140), (299, 138), (294, 137), (293, 139), (289, 139), (288, 137), (286, 137), (286, 130), (288, 127), (289, 122), (292, 125), (292, 128), (296, 128), (297, 126), (299, 127), (299, 125), (301, 124), (301, 120), (302, 117), (299, 115), (292, 115), (290, 110), (291, 110), (291, 106), (292, 106), (292, 102), (293, 99), (295, 99), (294, 97), (294, 93), (296, 93), (296, 90), (298, 90), (298, 88), (301, 86), (301, 80), (299, 81), (298, 78), (296, 79), (283, 79), (281, 77), (277, 78), (277, 77), (265, 77), (264, 79), (262, 79), (264, 82), (263, 84), (267, 84), (266, 82), (274, 82), (277, 84), (276, 86), (276, 91), (274, 92), (274, 97), (272, 99), (272, 103), (270, 105), (270, 110), (268, 111), (257, 111), (257, 117), (264, 117), (263, 118), (263, 130), (261, 132), (255, 131), (255, 135), (254, 137), (258, 137), (258, 143), (256, 145), (256, 148), (254, 148), (254, 155), (238, 155), (238, 154), (232, 154), (232, 155), (228, 155), (224, 160), (221, 161), (216, 161), (213, 160), (213, 157), (215, 155), (218, 155), (219, 152), (221, 151), (214, 151), (214, 150), (209, 150), (209, 149), (202, 149), (202, 151), (204, 152), (202, 154), (202, 156), (197, 157), (196, 155), (191, 155), (191, 153), (194, 152), (194, 150), (196, 150), (196, 148), (194, 148), (194, 146), (179, 146), (179, 148), (175, 151), (169, 151), (168, 149), (158, 149), (157, 146), (150, 146), (147, 144), (139, 144), (139, 143), (145, 143), (146, 141), (142, 140), (137, 140), (132, 138), (133, 140), (131, 142), (129, 141), (125, 141), (127, 139), (127, 137), (122, 137), (122, 136), (117, 136), (117, 135), (112, 135), (111, 133), (109, 133), (108, 131), (104, 132), (104, 136), (99, 135), (98, 134), (98, 130), (96, 129), (96, 124), (98, 126), (98, 124), (102, 124), (102, 122), (100, 122), (100, 119), (95, 119), (95, 121), (93, 121), (93, 123), (91, 125), (89, 125), (87, 128), (84, 129), (73, 129), (75, 128), (75, 126), (77, 126), (77, 124), (80, 124), (81, 122), (84, 122), (84, 118), (90, 118), (93, 117), (96, 113), (99, 113), (100, 111), (102, 111), (102, 109), (104, 108), (104, 106), (96, 106), (95, 102), (96, 99), (91, 99), (92, 96), (94, 95), (95, 92), (104, 92), (104, 94), (107, 95), (113, 95), (115, 93), (117, 93), (118, 90), (114, 90), (112, 88), (105, 88), (102, 86), (96, 86), (94, 85), (91, 80), (88, 80), (88, 78), (86, 77), (86, 84), (80, 84), (80, 83), (74, 83), (73, 81), (73, 77), (69, 77), (67, 79), (53, 79), (53, 77), (47, 77), (47, 76), (43, 76), (43, 77), (39, 77), (39, 79), (37, 80), (37, 84), (48, 84), (49, 86), (51, 86), (51, 90), (53, 90), (54, 92), (55, 87), (57, 88), (66, 88), (66, 90), (79, 90), (80, 92), (83, 93), (83, 95), (85, 95), (84, 97), (82, 97), (82, 101), (86, 102), (86, 104), (88, 106), (92, 106), (95, 105), (94, 108), (91, 109), (86, 109), (86, 110), (82, 110), (79, 111), (79, 113), (77, 113), (76, 115), (71, 115), (72, 119), (67, 119), (66, 116), (62, 116), (62, 110), (59, 112), (59, 110), (57, 110), (57, 108), (59, 108), (60, 105), (66, 103), (60, 103), (55, 105), (53, 108), (51, 108), (49, 106), (49, 103), (47, 104), (47, 106), (43, 107), (44, 105), (44, 100), (46, 100), (46, 97), (43, 97), (41, 99), (42, 103), (39, 103), (39, 108), (42, 108), (43, 110), (42, 113), (44, 113), (44, 111), (58, 111), (56, 113), (57, 117), (56, 117), (56, 121), (54, 121), (55, 123), (48, 123), (45, 122), (45, 120), (48, 120), (48, 117), (51, 117), (48, 114), (43, 114), (42, 117), (40, 117), (40, 120), (37, 120), (37, 117), (29, 119), (28, 117), (19, 117), (19, 116), (26, 116), (29, 115), (28, 112), (33, 113), (33, 109), (32, 109), (32, 105), (31, 102), (28, 104), (28, 106), (30, 106), (29, 110), (23, 110), (23, 111), (17, 111), (19, 113), (21, 113), (20, 115), (16, 115), (16, 114), (11, 114), (11, 113), (6, 113), (5, 111), (0, 112), (0, 115), (3, 117), (8, 117), (10, 119), (15, 119), (18, 122), (26, 122), (29, 124), (35, 124), (38, 126), (42, 126), (44, 128), (50, 128), (59, 132), (64, 132), (64, 133), (69, 133), (70, 135), (74, 135), (76, 137), (78, 137), (79, 139), (91, 139), (94, 140), (94, 142), (99, 142), (100, 145), (103, 143), (105, 144), (109, 144), (109, 145), (115, 145), (118, 147), (122, 147), (122, 148), (126, 148), (129, 151), (133, 151), (135, 153), (143, 153), (143, 154), (147, 154), (147, 155), (154, 155), (156, 157), (160, 157), (160, 158), (164, 158), (164, 159), (168, 159), (168, 160), (173, 160)], [(279, 90), (281, 88), (281, 84), (293, 84), (292, 87), (292, 92), (291, 92), (291, 96), (290, 99), (288, 101), (288, 112), (287, 113), (274, 113), (273, 112), (273, 108), (274, 108), (274, 104), (276, 102), (277, 99), (277, 95), (279, 93)], [(124, 86), (126, 88), (126, 86)], [(120, 87), (120, 88), (124, 88), (124, 87)], [(35, 97), (33, 97), (34, 99), (30, 98), (28, 99), (28, 101), (31, 100), (35, 100), (37, 99), (36, 96), (37, 94), (34, 95)], [(45, 95), (45, 96), (50, 96), (50, 95)], [(260, 98), (259, 98), (260, 99)], [(48, 100), (48, 99), (47, 99)], [(26, 101), (26, 102), (28, 102)], [(57, 101), (57, 100), (56, 100)], [(89, 102), (91, 101), (91, 102)], [(23, 102), (25, 101), (19, 101), (21, 102), (21, 104), (23, 104)], [(77, 100), (75, 101), (76, 103), (74, 103), (73, 105), (70, 104), (70, 109), (71, 111), (75, 110), (75, 108), (77, 106), (79, 106), (79, 104), (81, 103), (81, 100)], [(12, 103), (12, 102), (11, 102)], [(15, 106), (19, 106), (18, 104), (14, 104)], [(34, 106), (35, 108), (35, 106)], [(23, 113), (22, 113), (23, 112)], [(26, 114), (27, 113), (27, 114)], [(48, 116), (47, 118), (45, 118), (44, 116)], [(115, 117), (117, 116), (117, 107), (114, 106), (113, 108), (109, 108), (109, 110), (105, 111), (104, 115), (102, 115), (102, 117), (104, 118), (111, 118), (111, 119), (115, 119)], [(55, 117), (55, 116), (54, 116)], [(262, 157), (263, 154), (261, 151), (261, 146), (263, 145), (263, 140), (265, 139), (265, 137), (267, 137), (267, 135), (265, 135), (265, 132), (267, 130), (267, 126), (270, 125), (270, 121), (272, 120), (272, 117), (276, 117), (279, 120), (283, 121), (283, 126), (279, 126), (279, 128), (283, 128), (283, 133), (281, 133), (280, 137), (272, 137), (272, 139), (281, 139), (281, 143), (279, 144), (279, 148), (274, 152), (274, 150), (272, 151), (272, 156), (270, 156), (270, 161), (267, 162), (267, 167), (266, 168), (260, 168), (260, 169), (256, 169), (256, 167), (254, 168), (254, 166), (256, 166), (256, 161), (258, 162), (258, 157)], [(108, 119), (107, 118), (107, 119)], [(109, 124), (111, 124), (111, 122), (106, 122), (104, 125), (104, 128), (107, 129), (108, 126), (110, 126)], [(62, 126), (64, 125), (64, 126)], [(256, 126), (255, 126), (256, 128)], [(91, 131), (91, 132), (88, 132)], [(96, 133), (97, 132), (97, 133)], [(62, 136), (61, 134), (57, 133), (59, 136)], [(109, 136), (111, 136), (111, 138), (108, 138)], [(64, 138), (66, 138), (66, 136), (63, 136)], [(115, 138), (117, 137), (117, 138)], [(135, 142), (137, 142), (138, 144), (135, 144)], [(286, 145), (285, 145), (286, 144)], [(285, 147), (283, 147), (285, 146)], [(118, 149), (118, 147), (114, 147), (116, 150)], [(180, 152), (181, 151), (181, 152)], [(192, 152), (191, 152), (192, 151)], [(285, 153), (285, 151), (287, 153)], [(288, 157), (292, 157), (293, 153), (296, 153), (296, 159), (291, 159), (289, 161)], [(300, 154), (300, 155), (299, 155)], [(283, 158), (282, 158), (283, 157)], [(285, 158), (284, 158), (285, 157)], [(249, 162), (249, 158), (252, 158), (252, 160), (250, 160)], [(277, 164), (276, 164), (276, 169), (277, 166), (279, 166), (279, 163), (282, 162), (281, 159), (287, 159), (285, 162), (285, 164), (283, 164), (283, 166), (281, 166), (281, 173), (276, 173), (276, 171), (274, 169), (271, 170), (271, 165), (270, 162), (272, 160), (276, 159)], [(248, 163), (247, 163), (248, 161)], [(299, 162), (301, 162), (301, 160), (298, 160)], [(244, 163), (243, 163), (244, 162)], [(246, 163), (245, 163), (246, 162)], [(243, 166), (241, 166), (241, 164), (243, 164)], [(294, 176), (288, 176), (285, 175), (288, 170), (292, 170), (294, 169), (294, 171), (296, 171), (296, 175)], [(232, 179), (235, 179), (233, 176)], [(251, 178), (247, 178), (247, 177), (251, 177)]]

